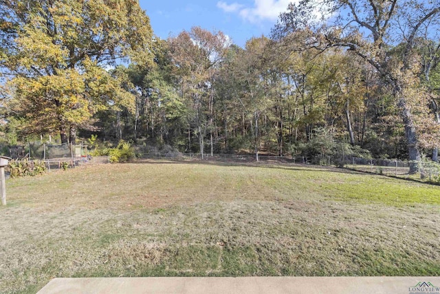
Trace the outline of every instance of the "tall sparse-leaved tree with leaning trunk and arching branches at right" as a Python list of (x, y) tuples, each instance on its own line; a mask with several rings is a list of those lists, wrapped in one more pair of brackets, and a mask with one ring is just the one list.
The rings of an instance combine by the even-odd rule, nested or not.
[[(413, 107), (426, 103), (419, 87), (415, 44), (423, 28), (440, 29), (438, 1), (303, 0), (281, 14), (274, 36), (300, 37), (307, 48), (346, 48), (370, 63), (389, 85), (405, 127), (410, 172), (421, 159), (420, 132)], [(317, 21), (316, 15), (322, 16)], [(401, 44), (399, 55), (390, 48)]]

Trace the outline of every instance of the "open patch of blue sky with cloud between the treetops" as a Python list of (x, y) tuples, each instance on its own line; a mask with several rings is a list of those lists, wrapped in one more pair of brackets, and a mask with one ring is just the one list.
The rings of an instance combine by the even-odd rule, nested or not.
[(292, 0), (140, 0), (154, 33), (162, 39), (199, 25), (221, 30), (237, 45), (252, 36), (268, 35), (280, 12)]

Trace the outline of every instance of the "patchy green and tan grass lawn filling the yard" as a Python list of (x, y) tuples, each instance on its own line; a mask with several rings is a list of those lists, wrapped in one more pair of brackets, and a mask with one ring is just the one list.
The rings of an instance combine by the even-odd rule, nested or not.
[(52, 277), (440, 275), (440, 187), (145, 160), (7, 181), (0, 292)]

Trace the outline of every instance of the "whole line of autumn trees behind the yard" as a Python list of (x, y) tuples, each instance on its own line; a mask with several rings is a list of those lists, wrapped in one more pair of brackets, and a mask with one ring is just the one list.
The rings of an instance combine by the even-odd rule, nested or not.
[(5, 140), (438, 160), (437, 1), (304, 0), (244, 48), (199, 27), (159, 39), (133, 0), (0, 7)]

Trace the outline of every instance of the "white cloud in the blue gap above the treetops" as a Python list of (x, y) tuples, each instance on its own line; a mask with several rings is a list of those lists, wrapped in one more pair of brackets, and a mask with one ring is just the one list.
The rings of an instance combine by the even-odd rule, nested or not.
[(270, 20), (276, 21), (281, 12), (287, 10), (292, 0), (254, 0), (253, 7), (245, 7), (239, 3), (228, 4), (223, 1), (217, 2), (217, 7), (225, 12), (238, 12), (243, 19), (252, 23)]

